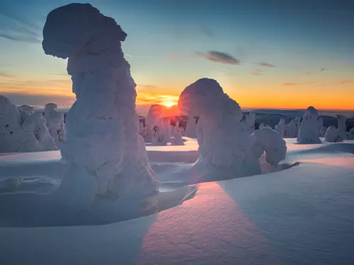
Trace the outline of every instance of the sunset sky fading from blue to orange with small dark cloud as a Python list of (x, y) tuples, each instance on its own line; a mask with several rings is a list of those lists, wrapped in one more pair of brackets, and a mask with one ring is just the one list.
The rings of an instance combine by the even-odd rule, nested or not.
[[(354, 1), (85, 2), (127, 33), (122, 48), (142, 112), (176, 104), (203, 77), (244, 109), (354, 109)], [(41, 45), (47, 13), (69, 3), (0, 0), (0, 95), (13, 104), (74, 102), (66, 60)]]

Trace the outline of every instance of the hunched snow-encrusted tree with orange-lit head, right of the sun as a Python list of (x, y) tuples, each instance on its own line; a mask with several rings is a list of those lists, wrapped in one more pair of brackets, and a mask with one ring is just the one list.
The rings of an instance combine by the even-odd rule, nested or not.
[(188, 116), (199, 117), (196, 131), (200, 157), (192, 167), (191, 183), (261, 172), (253, 140), (241, 122), (241, 108), (217, 81), (202, 78), (186, 87), (178, 107)]

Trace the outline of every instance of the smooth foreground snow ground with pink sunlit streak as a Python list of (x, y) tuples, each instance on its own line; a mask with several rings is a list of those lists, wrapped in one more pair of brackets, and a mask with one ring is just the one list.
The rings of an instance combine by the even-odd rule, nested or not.
[[(285, 140), (286, 161), (300, 165), (198, 184), (193, 199), (152, 216), (108, 225), (0, 228), (0, 263), (353, 264), (354, 142)], [(29, 166), (47, 155), (0, 156), (13, 165), (19, 157)], [(161, 176), (186, 166), (156, 168)]]

